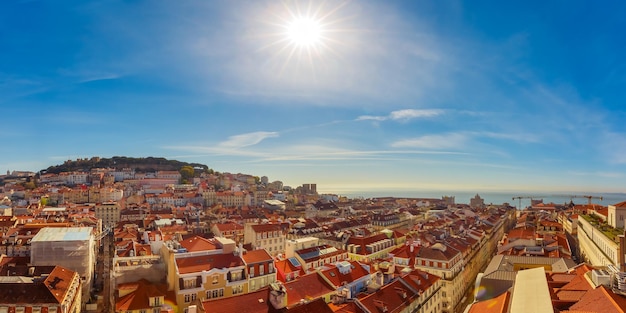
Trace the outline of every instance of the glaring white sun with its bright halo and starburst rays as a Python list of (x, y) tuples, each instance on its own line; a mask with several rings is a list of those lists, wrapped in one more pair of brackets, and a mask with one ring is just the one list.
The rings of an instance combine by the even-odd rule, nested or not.
[[(297, 73), (315, 76), (346, 50), (354, 37), (352, 19), (344, 8), (347, 1), (274, 1), (260, 14), (260, 27), (253, 30), (258, 51), (267, 53), (264, 66), (278, 75)], [(348, 39), (348, 40), (345, 40)], [(269, 52), (269, 53), (268, 53)]]

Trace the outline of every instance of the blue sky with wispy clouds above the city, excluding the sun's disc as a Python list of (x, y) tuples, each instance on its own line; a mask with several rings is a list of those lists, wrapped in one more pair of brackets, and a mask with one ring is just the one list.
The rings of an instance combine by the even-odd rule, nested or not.
[(0, 170), (159, 156), (336, 193), (621, 192), (625, 6), (2, 1)]

